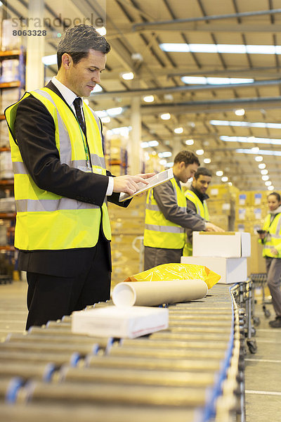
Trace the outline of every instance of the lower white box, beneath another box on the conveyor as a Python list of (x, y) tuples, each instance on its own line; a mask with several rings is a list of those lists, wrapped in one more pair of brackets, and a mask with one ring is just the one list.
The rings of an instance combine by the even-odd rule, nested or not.
[(221, 276), (221, 284), (247, 281), (247, 258), (181, 257), (181, 263), (204, 265)]

